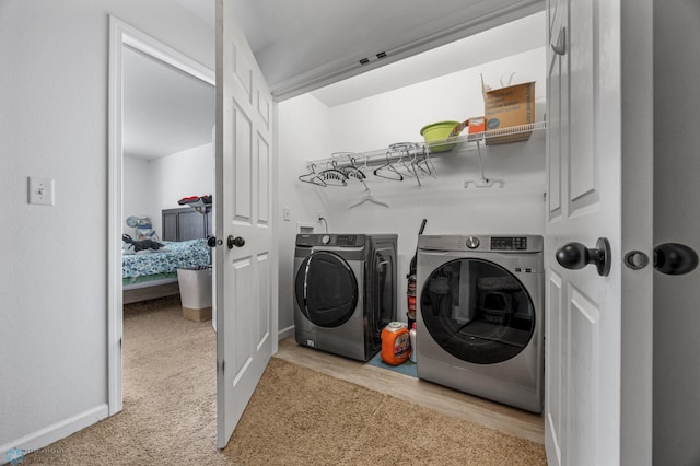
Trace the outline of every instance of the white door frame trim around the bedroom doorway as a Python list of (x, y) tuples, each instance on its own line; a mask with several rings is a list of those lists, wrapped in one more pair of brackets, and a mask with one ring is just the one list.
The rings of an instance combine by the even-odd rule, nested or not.
[(107, 401), (109, 416), (122, 409), (121, 223), (124, 218), (124, 60), (125, 46), (215, 86), (214, 71), (109, 15), (107, 148)]

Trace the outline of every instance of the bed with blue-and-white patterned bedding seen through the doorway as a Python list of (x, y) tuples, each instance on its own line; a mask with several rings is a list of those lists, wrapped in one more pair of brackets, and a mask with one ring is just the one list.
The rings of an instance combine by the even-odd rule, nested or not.
[(206, 238), (161, 241), (159, 249), (135, 252), (125, 244), (121, 255), (124, 304), (179, 293), (177, 269), (201, 269), (211, 264)]

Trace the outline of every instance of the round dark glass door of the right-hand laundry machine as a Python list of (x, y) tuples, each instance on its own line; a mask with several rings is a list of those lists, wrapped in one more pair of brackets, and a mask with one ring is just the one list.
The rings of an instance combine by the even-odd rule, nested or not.
[(520, 280), (481, 259), (457, 259), (435, 269), (423, 284), (425, 329), (463, 361), (493, 364), (520, 353), (535, 329), (533, 301)]

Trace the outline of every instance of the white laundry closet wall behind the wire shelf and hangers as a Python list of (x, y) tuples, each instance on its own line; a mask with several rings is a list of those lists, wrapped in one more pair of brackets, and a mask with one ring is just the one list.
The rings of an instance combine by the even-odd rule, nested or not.
[[(503, 188), (464, 188), (466, 179), (480, 178), (474, 145), (434, 155), (438, 178), (421, 178), (420, 188), (410, 178), (392, 182), (372, 175), (372, 170), (365, 171), (373, 196), (389, 208), (364, 203), (349, 209), (365, 194), (359, 183), (345, 188), (319, 188), (300, 183), (296, 177), (305, 173), (308, 160), (325, 159), (331, 152), (372, 151), (395, 142), (421, 141), (420, 129), (428, 124), (480, 116), (483, 114), (480, 74), (495, 89), (500, 88), (501, 77), (508, 80), (512, 72), (515, 72), (513, 84), (537, 82), (536, 118), (541, 120), (545, 108), (544, 48), (332, 108), (323, 105), (318, 108), (320, 104), (317, 104), (314, 110), (310, 104), (300, 110), (295, 100), (279, 105), (280, 131), (285, 131), (283, 121), (296, 121), (293, 133), (280, 132), (280, 154), (284, 150), (293, 158), (285, 160), (284, 170), (280, 170), (282, 205), (294, 202), (292, 207), (296, 209), (296, 202), (302, 202), (300, 195), (304, 194), (307, 218), (313, 221), (315, 211), (320, 209), (331, 232), (397, 233), (400, 319), (406, 319), (405, 277), (416, 252), (422, 219), (428, 219), (425, 234), (544, 233), (544, 131), (535, 132), (527, 142), (482, 150), (486, 176), (504, 180)], [(310, 103), (313, 97), (304, 98)], [(311, 119), (314, 112), (318, 117)], [(315, 145), (318, 138), (326, 138), (326, 130), (330, 131), (328, 147)], [(293, 143), (290, 142), (292, 137)], [(291, 151), (287, 149), (289, 147), (296, 149)], [(284, 251), (283, 247), (289, 251), (290, 264), (293, 243), (291, 229), (282, 232), (280, 251)], [(291, 283), (292, 279), (290, 267), (280, 268), (280, 282), (288, 280)], [(293, 291), (289, 283), (280, 288), (280, 322), (293, 322)]]

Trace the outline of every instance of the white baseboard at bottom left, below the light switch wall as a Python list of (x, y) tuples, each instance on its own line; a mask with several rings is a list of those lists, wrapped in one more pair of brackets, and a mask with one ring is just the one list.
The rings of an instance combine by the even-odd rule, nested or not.
[[(67, 438), (80, 430), (85, 429), (89, 426), (94, 424), (97, 421), (105, 419), (109, 413), (108, 406), (100, 405), (93, 409), (75, 415), (71, 418), (65, 419), (52, 426), (33, 432), (28, 435), (18, 439), (14, 442), (10, 442), (5, 445), (0, 445), (0, 465), (8, 463), (8, 452), (13, 448), (21, 450), (23, 454), (36, 452), (42, 450), (54, 442)], [(68, 461), (68, 458), (67, 458)]]

